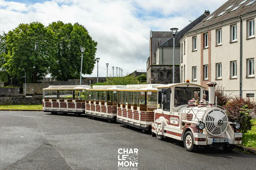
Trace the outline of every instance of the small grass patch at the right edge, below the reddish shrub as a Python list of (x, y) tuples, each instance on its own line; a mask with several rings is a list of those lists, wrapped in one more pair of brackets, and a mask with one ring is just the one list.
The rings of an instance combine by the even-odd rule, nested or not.
[(252, 129), (243, 134), (242, 145), (256, 149), (256, 119), (252, 119)]

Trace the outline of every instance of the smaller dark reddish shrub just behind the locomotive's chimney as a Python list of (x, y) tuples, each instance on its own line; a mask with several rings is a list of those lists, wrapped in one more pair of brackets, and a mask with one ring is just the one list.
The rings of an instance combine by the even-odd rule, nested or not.
[[(230, 100), (230, 95), (224, 94), (225, 87), (216, 86), (215, 87), (215, 96), (217, 96), (217, 105), (223, 106), (226, 105)], [(216, 98), (214, 98), (214, 103), (216, 102)]]

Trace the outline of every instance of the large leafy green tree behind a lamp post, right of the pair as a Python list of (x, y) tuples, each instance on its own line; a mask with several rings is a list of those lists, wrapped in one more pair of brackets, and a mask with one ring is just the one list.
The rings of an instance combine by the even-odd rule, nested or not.
[(56, 64), (50, 67), (50, 73), (57, 80), (80, 78), (81, 52), (80, 46), (86, 47), (83, 55), (83, 74), (91, 74), (95, 64), (97, 42), (89, 35), (83, 25), (75, 23), (64, 24), (57, 21), (49, 24), (54, 32)]

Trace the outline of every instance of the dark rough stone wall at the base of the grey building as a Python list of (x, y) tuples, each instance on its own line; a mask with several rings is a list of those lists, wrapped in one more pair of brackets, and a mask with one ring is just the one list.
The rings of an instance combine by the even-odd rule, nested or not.
[[(152, 79), (150, 81), (150, 78)], [(175, 83), (180, 83), (180, 66), (175, 65)], [(170, 84), (173, 83), (172, 65), (151, 65), (147, 70), (147, 83), (151, 84)]]

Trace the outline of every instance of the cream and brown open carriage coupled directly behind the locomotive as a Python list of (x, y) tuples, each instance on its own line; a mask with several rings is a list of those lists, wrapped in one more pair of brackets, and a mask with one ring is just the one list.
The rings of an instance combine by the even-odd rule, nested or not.
[(157, 108), (157, 88), (160, 84), (127, 85), (119, 91), (117, 122), (141, 129), (151, 129)]

